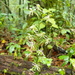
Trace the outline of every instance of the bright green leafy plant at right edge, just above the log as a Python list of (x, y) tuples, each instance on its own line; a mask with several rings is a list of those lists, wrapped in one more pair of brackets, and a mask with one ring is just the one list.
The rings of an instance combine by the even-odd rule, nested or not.
[(68, 48), (68, 54), (67, 55), (59, 56), (59, 59), (64, 60), (63, 66), (70, 62), (69, 67), (73, 66), (75, 68), (75, 64), (74, 64), (75, 60), (72, 58), (72, 56), (74, 56), (74, 55), (75, 55), (75, 44), (73, 44), (71, 47)]

